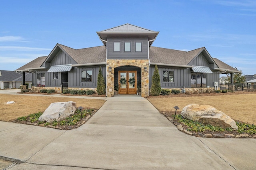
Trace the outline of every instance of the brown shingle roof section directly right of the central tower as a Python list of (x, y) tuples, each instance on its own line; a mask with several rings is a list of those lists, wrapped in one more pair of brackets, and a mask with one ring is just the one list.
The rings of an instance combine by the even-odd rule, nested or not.
[(187, 65), (204, 47), (192, 51), (179, 51), (160, 47), (150, 47), (150, 63)]

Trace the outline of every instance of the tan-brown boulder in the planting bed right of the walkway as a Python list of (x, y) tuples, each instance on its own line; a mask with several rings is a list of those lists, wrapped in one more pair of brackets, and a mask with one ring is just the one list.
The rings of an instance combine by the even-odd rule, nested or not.
[(181, 111), (181, 115), (186, 119), (210, 124), (222, 128), (233, 128), (237, 130), (236, 122), (228, 115), (208, 105), (189, 104)]

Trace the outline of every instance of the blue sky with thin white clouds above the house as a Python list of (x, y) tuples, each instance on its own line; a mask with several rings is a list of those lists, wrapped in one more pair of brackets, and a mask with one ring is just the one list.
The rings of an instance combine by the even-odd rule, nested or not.
[(160, 31), (153, 46), (190, 51), (256, 74), (255, 0), (5, 0), (0, 6), (0, 70), (16, 70), (56, 43), (103, 45), (96, 31), (130, 23)]

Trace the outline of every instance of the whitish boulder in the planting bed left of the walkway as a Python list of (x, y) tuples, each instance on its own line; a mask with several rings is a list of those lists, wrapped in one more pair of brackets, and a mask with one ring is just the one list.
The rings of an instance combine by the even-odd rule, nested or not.
[(66, 117), (73, 115), (76, 111), (76, 102), (56, 102), (50, 104), (38, 121), (53, 122), (64, 120)]

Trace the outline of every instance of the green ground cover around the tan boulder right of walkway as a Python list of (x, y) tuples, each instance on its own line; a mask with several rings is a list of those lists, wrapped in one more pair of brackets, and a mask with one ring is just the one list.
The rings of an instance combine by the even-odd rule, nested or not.
[[(173, 115), (174, 117), (174, 115)], [(178, 123), (182, 123), (188, 127), (188, 131), (194, 131), (194, 132), (204, 132), (204, 131), (212, 131), (212, 132), (224, 132), (224, 131), (233, 131), (232, 128), (226, 128), (223, 129), (221, 127), (216, 127), (212, 125), (204, 125), (198, 121), (192, 121), (189, 119), (185, 119), (182, 117), (182, 115), (176, 115), (176, 121)], [(248, 133), (248, 134), (256, 134), (256, 125), (251, 125), (243, 122), (236, 122), (236, 125), (238, 126), (238, 133)]]

